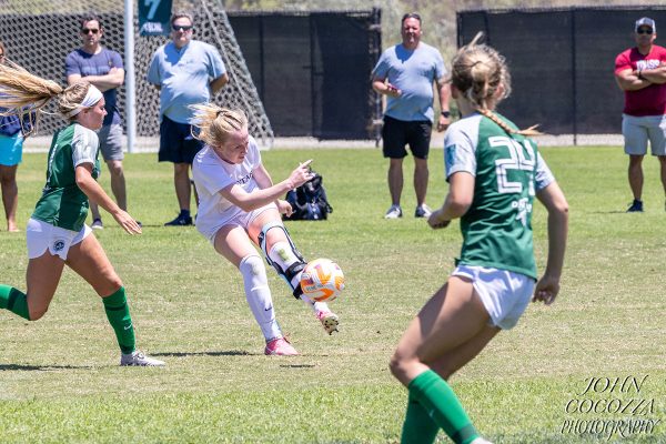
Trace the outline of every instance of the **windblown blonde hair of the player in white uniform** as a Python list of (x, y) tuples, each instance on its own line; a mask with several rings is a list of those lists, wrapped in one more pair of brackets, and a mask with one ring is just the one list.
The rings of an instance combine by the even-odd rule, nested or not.
[(192, 105), (194, 110), (194, 125), (199, 127), (199, 134), (192, 133), (210, 147), (222, 147), (229, 134), (248, 128), (248, 118), (241, 110), (230, 110), (214, 103), (200, 103)]

